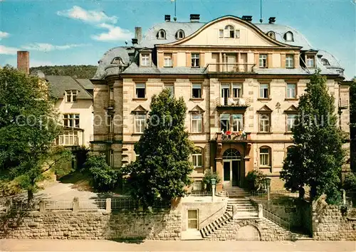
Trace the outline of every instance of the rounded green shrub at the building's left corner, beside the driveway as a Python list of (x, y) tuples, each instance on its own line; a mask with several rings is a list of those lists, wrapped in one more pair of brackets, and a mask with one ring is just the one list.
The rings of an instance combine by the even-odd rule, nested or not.
[(94, 189), (98, 191), (112, 191), (120, 182), (120, 172), (106, 163), (104, 155), (88, 157), (84, 168), (92, 179)]

